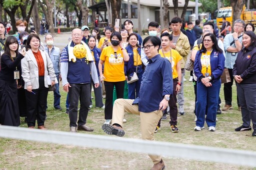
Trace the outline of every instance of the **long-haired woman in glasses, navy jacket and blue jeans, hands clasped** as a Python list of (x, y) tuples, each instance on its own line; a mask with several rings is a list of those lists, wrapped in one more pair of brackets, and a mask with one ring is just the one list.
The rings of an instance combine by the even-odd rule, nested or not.
[(223, 51), (218, 47), (215, 35), (205, 34), (202, 48), (196, 53), (194, 60), (194, 74), (197, 77), (195, 131), (204, 129), (204, 121), (208, 131), (215, 131), (220, 76), (224, 70), (224, 61)]

